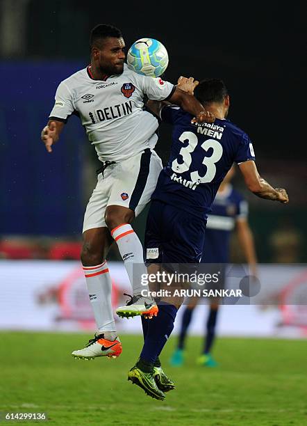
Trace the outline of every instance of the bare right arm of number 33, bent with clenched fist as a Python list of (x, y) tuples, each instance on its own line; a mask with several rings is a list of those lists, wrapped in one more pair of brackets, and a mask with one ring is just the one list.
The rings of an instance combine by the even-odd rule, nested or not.
[(283, 188), (273, 188), (266, 180), (261, 178), (254, 161), (244, 161), (239, 164), (245, 184), (249, 191), (266, 200), (279, 201), (286, 204), (289, 202), (288, 194)]

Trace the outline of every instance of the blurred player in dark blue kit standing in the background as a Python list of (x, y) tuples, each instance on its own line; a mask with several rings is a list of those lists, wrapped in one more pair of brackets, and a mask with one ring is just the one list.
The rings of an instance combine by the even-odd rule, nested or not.
[[(231, 179), (235, 174), (235, 167), (232, 166), (226, 174), (220, 185), (215, 200), (212, 205), (212, 212), (208, 214), (206, 226), (206, 238), (203, 248), (201, 263), (226, 265), (229, 263), (229, 246), (231, 232), (235, 228), (238, 232), (238, 240), (242, 246), (243, 253), (249, 264), (249, 273), (256, 276), (256, 252), (254, 247), (254, 238), (247, 222), (248, 205), (241, 194), (233, 189)], [(194, 297), (188, 301), (181, 318), (181, 329), (179, 334), (178, 346), (172, 358), (171, 365), (180, 367), (184, 362), (185, 339), (188, 328), (192, 320), (194, 308), (199, 299)], [(211, 348), (215, 340), (215, 327), (217, 322), (217, 311), (219, 301), (210, 300), (210, 310), (206, 323), (206, 337), (204, 349), (201, 356), (197, 359), (200, 365), (215, 367), (217, 363), (211, 355)]]

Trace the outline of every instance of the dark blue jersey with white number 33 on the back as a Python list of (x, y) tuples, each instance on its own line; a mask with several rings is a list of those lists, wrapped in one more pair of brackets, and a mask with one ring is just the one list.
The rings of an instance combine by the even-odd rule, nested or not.
[(164, 107), (161, 118), (173, 125), (172, 148), (151, 199), (206, 219), (233, 161), (255, 159), (249, 136), (229, 120), (192, 124), (192, 116), (174, 105)]

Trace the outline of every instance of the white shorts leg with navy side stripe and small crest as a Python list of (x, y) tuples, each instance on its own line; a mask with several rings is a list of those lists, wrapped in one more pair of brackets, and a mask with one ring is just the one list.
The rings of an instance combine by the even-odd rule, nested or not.
[(109, 205), (121, 205), (138, 216), (149, 203), (156, 188), (162, 163), (156, 152), (149, 149), (122, 161), (110, 192)]

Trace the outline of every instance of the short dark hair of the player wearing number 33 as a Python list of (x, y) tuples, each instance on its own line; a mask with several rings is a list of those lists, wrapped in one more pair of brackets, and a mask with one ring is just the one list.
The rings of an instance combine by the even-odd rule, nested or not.
[(201, 104), (222, 103), (228, 95), (224, 81), (221, 79), (204, 79), (194, 89), (194, 96)]

